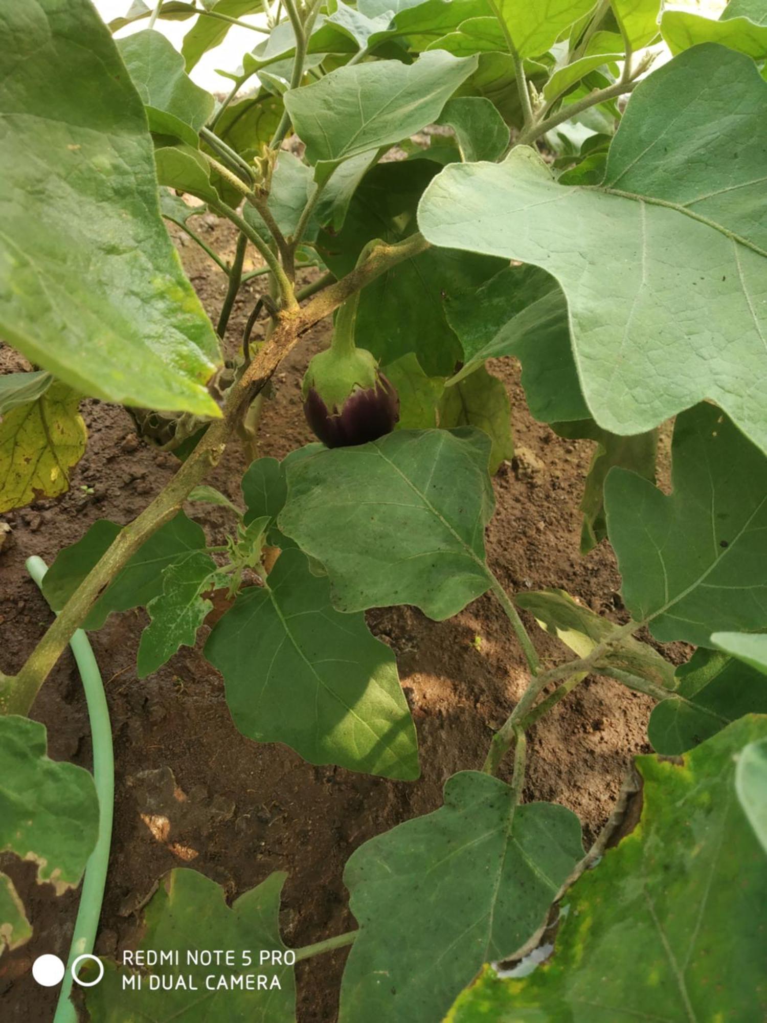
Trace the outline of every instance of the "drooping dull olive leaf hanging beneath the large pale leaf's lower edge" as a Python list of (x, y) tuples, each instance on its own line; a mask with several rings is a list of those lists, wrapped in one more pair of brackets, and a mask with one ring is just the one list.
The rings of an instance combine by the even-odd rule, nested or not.
[(593, 419), (556, 422), (553, 428), (560, 437), (586, 438), (596, 442), (580, 504), (583, 511), (581, 553), (587, 554), (607, 535), (603, 488), (611, 469), (620, 465), (650, 483), (656, 482), (658, 431), (650, 430), (635, 437), (619, 437), (597, 427)]

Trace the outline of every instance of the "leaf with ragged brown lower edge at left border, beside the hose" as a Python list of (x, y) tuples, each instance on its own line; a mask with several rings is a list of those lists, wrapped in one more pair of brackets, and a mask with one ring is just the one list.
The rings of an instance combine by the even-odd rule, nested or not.
[(87, 770), (48, 759), (46, 748), (38, 721), (0, 717), (0, 852), (31, 859), (38, 883), (60, 895), (80, 884), (96, 844), (98, 799)]

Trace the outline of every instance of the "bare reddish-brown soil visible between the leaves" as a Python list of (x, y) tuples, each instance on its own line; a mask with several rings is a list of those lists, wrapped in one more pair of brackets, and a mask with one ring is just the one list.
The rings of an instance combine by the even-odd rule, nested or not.
[[(206, 221), (196, 221), (206, 239), (231, 255), (227, 227), (214, 218)], [(192, 282), (215, 316), (224, 275), (183, 236), (180, 249)], [(258, 284), (256, 278), (230, 321), (235, 346)], [(262, 454), (281, 457), (310, 440), (300, 382), (312, 349), (325, 336), (323, 326), (281, 366), (262, 420)], [(12, 357), (7, 349), (5, 354)], [(492, 368), (508, 387), (517, 451), (514, 462), (505, 463), (495, 479), (497, 510), (487, 534), (493, 570), (509, 590), (560, 586), (594, 611), (624, 620), (610, 547), (602, 543), (587, 558), (578, 552), (578, 503), (591, 445), (563, 441), (530, 417), (510, 360)], [(83, 414), (88, 451), (69, 494), (5, 516), (12, 530), (0, 551), (5, 671), (22, 664), (51, 618), (27, 576), (25, 559), (38, 553), (52, 562), (60, 547), (81, 537), (96, 519), (128, 522), (177, 465), (171, 454), (136, 437), (123, 409), (88, 400)], [(241, 449), (233, 444), (210, 482), (237, 499), (243, 469)], [(212, 542), (222, 542), (227, 513), (197, 504), (194, 514)], [(349, 855), (372, 836), (438, 807), (452, 772), (480, 767), (492, 729), (526, 684), (518, 647), (489, 595), (446, 622), (432, 622), (412, 608), (377, 610), (368, 621), (397, 655), (420, 741), (423, 774), (416, 783), (313, 767), (284, 746), (243, 738), (231, 722), (220, 676), (202, 659), (201, 641), (139, 681), (135, 664), (146, 622), (143, 611), (112, 616), (91, 634), (109, 700), (117, 762), (99, 953), (114, 954), (131, 942), (137, 911), (157, 878), (185, 864), (223, 885), (228, 897), (272, 871), (286, 871), (281, 922), (294, 947), (354, 926), (342, 882)], [(527, 624), (545, 658), (561, 658), (555, 641), (533, 621)], [(201, 631), (204, 640), (208, 629)], [(588, 843), (610, 812), (631, 755), (648, 750), (648, 711), (646, 698), (603, 678), (587, 679), (533, 729), (524, 798), (569, 806), (583, 821)], [(32, 716), (47, 725), (53, 758), (90, 766), (85, 702), (69, 654), (43, 687)], [(184, 802), (174, 799), (176, 786), (186, 794)], [(152, 834), (142, 819), (142, 814), (156, 813), (170, 818), (169, 835)], [(65, 959), (77, 893), (55, 898), (50, 886), (35, 885), (32, 864), (9, 855), (0, 857), (0, 869), (13, 878), (35, 931), (28, 945), (0, 961), (0, 1016), (7, 1023), (48, 1023), (57, 988), (38, 987), (29, 971), (43, 952)], [(339, 951), (299, 968), (301, 1023), (334, 1020), (345, 957), (346, 951)]]

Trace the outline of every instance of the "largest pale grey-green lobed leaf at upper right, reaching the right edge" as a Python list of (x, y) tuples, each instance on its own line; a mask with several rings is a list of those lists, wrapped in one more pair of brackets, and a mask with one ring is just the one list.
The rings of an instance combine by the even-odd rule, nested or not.
[(601, 185), (557, 184), (525, 147), (453, 164), (421, 199), (421, 230), (558, 279), (600, 427), (642, 433), (712, 398), (767, 448), (755, 385), (767, 373), (766, 103), (748, 57), (694, 47), (635, 90)]

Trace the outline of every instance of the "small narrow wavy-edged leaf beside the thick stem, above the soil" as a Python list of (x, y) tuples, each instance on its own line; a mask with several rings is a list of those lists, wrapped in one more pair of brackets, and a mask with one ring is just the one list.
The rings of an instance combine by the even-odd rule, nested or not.
[(137, 672), (146, 678), (169, 661), (179, 647), (193, 647), (197, 629), (213, 608), (201, 594), (210, 588), (216, 563), (205, 551), (194, 551), (163, 570), (163, 592), (146, 606), (151, 621), (141, 633)]

